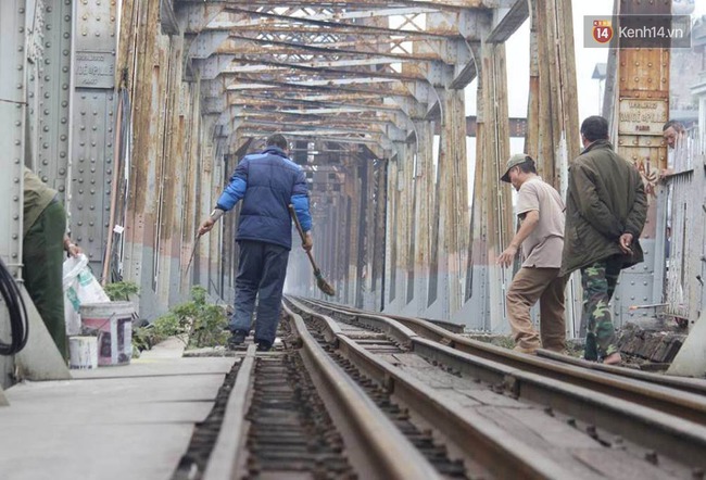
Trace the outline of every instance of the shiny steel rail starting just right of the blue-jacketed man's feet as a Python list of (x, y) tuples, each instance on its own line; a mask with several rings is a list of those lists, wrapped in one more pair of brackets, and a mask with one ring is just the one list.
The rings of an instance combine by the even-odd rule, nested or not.
[(440, 479), (431, 464), (322, 349), (303, 318), (287, 305), (285, 313), (302, 341), (302, 359), (346, 440), (351, 463), (361, 478)]

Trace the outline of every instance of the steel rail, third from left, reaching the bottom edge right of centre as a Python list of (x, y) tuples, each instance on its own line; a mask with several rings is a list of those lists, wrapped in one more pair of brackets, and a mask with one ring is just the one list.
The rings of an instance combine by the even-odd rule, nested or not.
[[(399, 397), (406, 406), (414, 409), (436, 429), (449, 437), (459, 449), (475, 462), (497, 478), (527, 478), (527, 479), (563, 479), (570, 478), (570, 471), (547, 458), (540, 451), (518, 441), (508, 432), (500, 429), (482, 416), (455, 410), (455, 405), (450, 404), (438, 391), (412, 378), (402, 369), (390, 365), (357, 345), (344, 331), (338, 328), (336, 321), (326, 317), (292, 299), (287, 299), (294, 308), (301, 310), (306, 315), (318, 317), (320, 325), (330, 332), (339, 331), (337, 346), (341, 354), (346, 356), (366, 376), (384, 386)], [(291, 312), (291, 311), (290, 311)], [(380, 321), (384, 318), (380, 317)], [(370, 325), (374, 321), (370, 321)], [(389, 331), (406, 330), (403, 326), (392, 325)], [(413, 337), (414, 333), (412, 333)], [(412, 338), (407, 339), (407, 343)]]

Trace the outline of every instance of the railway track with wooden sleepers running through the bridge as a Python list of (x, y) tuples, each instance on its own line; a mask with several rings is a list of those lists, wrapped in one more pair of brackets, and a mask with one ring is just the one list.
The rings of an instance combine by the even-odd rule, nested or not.
[[(287, 299), (285, 316), (282, 346), (236, 353), (220, 427), (214, 418), (200, 464), (182, 462), (175, 480), (704, 478), (705, 426), (514, 358), (535, 369), (537, 357), (504, 364), (459, 351), (455, 337), (423, 338), (443, 329), (421, 320), (412, 329), (302, 299)], [(587, 370), (539, 359), (564, 376)]]

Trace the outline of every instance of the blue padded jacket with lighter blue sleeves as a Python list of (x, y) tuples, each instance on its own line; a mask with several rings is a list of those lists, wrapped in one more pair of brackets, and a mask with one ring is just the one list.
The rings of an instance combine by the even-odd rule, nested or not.
[(301, 166), (289, 160), (277, 147), (262, 153), (245, 155), (216, 207), (229, 211), (242, 199), (236, 240), (255, 240), (292, 248), (293, 204), (302, 229), (312, 228), (306, 176)]

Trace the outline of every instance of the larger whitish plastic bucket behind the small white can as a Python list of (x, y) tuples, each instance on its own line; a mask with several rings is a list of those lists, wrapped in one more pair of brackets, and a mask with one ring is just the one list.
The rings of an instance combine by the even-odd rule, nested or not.
[(98, 365), (127, 365), (133, 357), (131, 302), (85, 303), (81, 331), (98, 337)]

